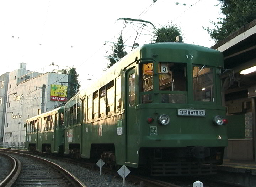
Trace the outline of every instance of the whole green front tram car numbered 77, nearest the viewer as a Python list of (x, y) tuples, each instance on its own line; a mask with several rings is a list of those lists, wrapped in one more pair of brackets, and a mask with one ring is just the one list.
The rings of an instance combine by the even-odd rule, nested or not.
[(64, 154), (153, 176), (211, 174), (228, 142), (221, 68), (222, 53), (202, 46), (134, 49), (65, 104)]

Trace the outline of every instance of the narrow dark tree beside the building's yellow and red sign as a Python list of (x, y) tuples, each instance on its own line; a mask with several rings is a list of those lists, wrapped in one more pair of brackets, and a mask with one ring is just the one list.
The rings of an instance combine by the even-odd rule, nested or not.
[(73, 97), (76, 94), (76, 91), (78, 91), (78, 89), (80, 88), (80, 83), (78, 83), (78, 76), (79, 74), (77, 74), (76, 72), (76, 68), (72, 67), (69, 70), (66, 69), (62, 69), (60, 70), (60, 73), (62, 74), (68, 74), (69, 78), (68, 78), (68, 96), (67, 99), (69, 100), (71, 97)]

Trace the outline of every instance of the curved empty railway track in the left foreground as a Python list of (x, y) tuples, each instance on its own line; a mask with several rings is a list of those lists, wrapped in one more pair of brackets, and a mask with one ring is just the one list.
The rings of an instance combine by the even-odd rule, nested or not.
[[(86, 187), (79, 179), (59, 165), (46, 159), (27, 155), (23, 153), (14, 153), (1, 151), (8, 154), (15, 154), (18, 160), (21, 160), (22, 168), (19, 174), (14, 174), (12, 169), (10, 174), (4, 180), (5, 183), (12, 181), (13, 187), (18, 186), (63, 186), (63, 187)], [(18, 163), (18, 162), (16, 162)], [(21, 164), (16, 164), (21, 167)], [(14, 178), (16, 176), (16, 178)]]

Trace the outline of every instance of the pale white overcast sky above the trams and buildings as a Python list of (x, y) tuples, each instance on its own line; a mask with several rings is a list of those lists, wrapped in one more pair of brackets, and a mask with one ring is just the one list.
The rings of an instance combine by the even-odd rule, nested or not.
[[(203, 27), (213, 27), (209, 20), (223, 17), (218, 0), (157, 0), (151, 4), (153, 0), (1, 0), (0, 75), (19, 68), (21, 62), (27, 70), (39, 72), (54, 62), (59, 69), (76, 67), (84, 86), (87, 79), (106, 69), (108, 61), (103, 56), (112, 43), (103, 44), (117, 42), (124, 26), (118, 18), (144, 19), (155, 27), (173, 23), (181, 27), (184, 42), (214, 45)], [(141, 26), (131, 24), (123, 30), (126, 45), (133, 44)], [(148, 34), (140, 36), (140, 45), (151, 40), (152, 29), (147, 24), (138, 30)]]

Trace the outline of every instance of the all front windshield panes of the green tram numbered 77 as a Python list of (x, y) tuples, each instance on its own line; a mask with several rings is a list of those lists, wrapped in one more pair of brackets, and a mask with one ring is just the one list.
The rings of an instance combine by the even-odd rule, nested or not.
[[(187, 103), (187, 64), (159, 62), (158, 66), (154, 67), (157, 72), (154, 74), (153, 65), (156, 64), (152, 62), (140, 64), (141, 103)], [(214, 69), (204, 65), (192, 66), (194, 101), (215, 101)]]

